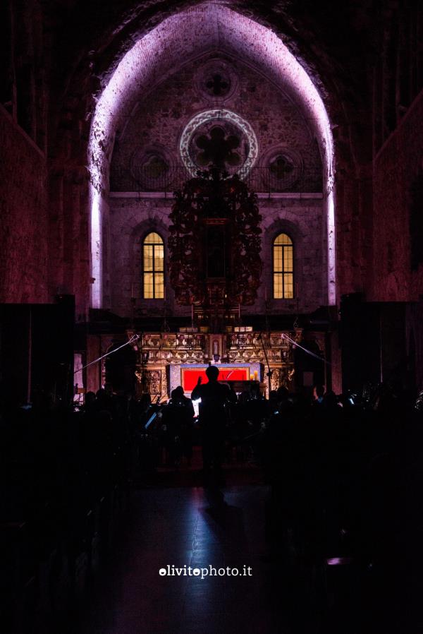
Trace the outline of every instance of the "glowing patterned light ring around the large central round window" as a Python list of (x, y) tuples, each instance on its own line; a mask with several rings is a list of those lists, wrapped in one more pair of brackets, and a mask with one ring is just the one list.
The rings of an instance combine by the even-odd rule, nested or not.
[(195, 131), (202, 126), (202, 124), (206, 124), (208, 121), (219, 121), (219, 119), (226, 119), (226, 121), (231, 121), (231, 123), (238, 126), (245, 136), (248, 139), (248, 156), (245, 160), (244, 164), (238, 169), (236, 174), (242, 174), (242, 177), (245, 178), (250, 172), (250, 169), (255, 164), (257, 160), (257, 156), (259, 155), (259, 144), (257, 143), (257, 136), (255, 136), (255, 131), (252, 129), (252, 126), (239, 116), (239, 114), (235, 114), (231, 110), (215, 108), (212, 110), (204, 110), (204, 112), (199, 112), (195, 116), (192, 117), (188, 124), (183, 129), (183, 133), (180, 136), (179, 142), (179, 151), (180, 157), (183, 160), (183, 164), (190, 172), (191, 176), (194, 177), (200, 167), (195, 165), (195, 163), (191, 160), (189, 147), (190, 140)]

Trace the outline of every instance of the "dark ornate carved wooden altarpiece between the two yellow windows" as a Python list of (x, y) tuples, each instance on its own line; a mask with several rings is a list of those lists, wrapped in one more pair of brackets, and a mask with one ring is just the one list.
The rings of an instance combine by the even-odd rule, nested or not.
[(218, 167), (175, 192), (168, 238), (170, 280), (179, 304), (223, 332), (240, 304), (257, 297), (262, 229), (257, 196)]

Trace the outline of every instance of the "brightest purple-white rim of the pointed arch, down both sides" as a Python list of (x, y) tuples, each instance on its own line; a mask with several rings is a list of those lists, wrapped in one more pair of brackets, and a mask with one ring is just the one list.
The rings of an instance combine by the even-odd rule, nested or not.
[[(204, 5), (205, 6), (205, 5)], [(215, 11), (225, 13), (225, 18), (231, 18), (231, 9), (216, 6)], [(192, 17), (194, 11), (200, 11), (202, 6), (191, 9)], [(185, 17), (188, 13), (184, 14)], [(144, 37), (138, 40), (132, 48), (126, 52), (114, 73), (109, 79), (109, 83), (104, 86), (102, 94), (98, 97), (90, 132), (90, 142), (88, 146), (88, 162), (90, 170), (90, 246), (91, 246), (91, 306), (94, 309), (103, 307), (103, 244), (102, 244), (102, 222), (104, 210), (108, 207), (104, 191), (107, 191), (108, 183), (106, 177), (109, 173), (108, 155), (104, 151), (105, 147), (113, 145), (114, 133), (120, 120), (120, 113), (125, 107), (124, 95), (134, 90), (137, 82), (133, 81), (133, 76), (139, 72), (137, 54), (140, 48), (152, 49), (150, 59), (157, 59), (163, 49), (163, 42), (168, 35), (166, 28), (176, 23), (176, 16), (166, 18), (161, 25), (154, 28)], [(200, 19), (204, 19), (200, 13)], [(334, 151), (331, 124), (324, 102), (298, 59), (288, 50), (282, 40), (269, 28), (255, 22), (251, 18), (240, 16), (236, 13), (236, 25), (240, 31), (240, 37), (245, 41), (254, 38), (255, 47), (259, 53), (266, 56), (271, 68), (285, 77), (295, 85), (295, 94), (302, 108), (309, 112), (309, 117), (314, 121), (317, 133), (317, 141), (321, 152), (324, 175), (324, 213), (326, 214), (326, 237), (327, 237), (327, 301), (329, 306), (336, 305), (336, 225), (335, 225), (335, 187), (334, 187)], [(175, 32), (175, 30), (172, 30)], [(176, 31), (177, 32), (177, 31)], [(255, 37), (255, 35), (257, 37)], [(147, 75), (148, 75), (148, 71)], [(151, 72), (151, 71), (150, 71)]]

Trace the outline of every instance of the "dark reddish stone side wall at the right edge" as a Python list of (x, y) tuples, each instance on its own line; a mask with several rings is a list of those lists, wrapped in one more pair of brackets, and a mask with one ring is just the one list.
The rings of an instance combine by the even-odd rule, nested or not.
[(376, 301), (417, 301), (423, 293), (423, 92), (374, 160)]

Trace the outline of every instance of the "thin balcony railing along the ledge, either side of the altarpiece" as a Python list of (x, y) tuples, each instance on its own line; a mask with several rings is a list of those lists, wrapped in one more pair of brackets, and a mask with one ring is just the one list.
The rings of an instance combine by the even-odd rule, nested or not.
[[(320, 169), (293, 168), (290, 172), (278, 172), (271, 167), (252, 167), (247, 174), (240, 170), (240, 177), (257, 193), (321, 193), (323, 179)], [(180, 189), (190, 174), (185, 167), (157, 169), (111, 170), (111, 191), (159, 191), (165, 194)]]

